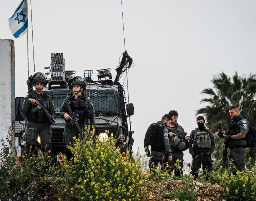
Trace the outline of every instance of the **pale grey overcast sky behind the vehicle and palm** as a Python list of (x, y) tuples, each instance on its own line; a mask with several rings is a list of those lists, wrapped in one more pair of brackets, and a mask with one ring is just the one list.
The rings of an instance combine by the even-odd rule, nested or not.
[[(8, 23), (21, 0), (0, 2), (0, 39), (15, 41), (16, 97), (26, 96), (26, 35), (15, 39)], [(212, 86), (213, 75), (255, 72), (255, 11), (256, 1), (123, 0), (126, 49), (135, 64), (128, 73), (134, 149), (144, 149), (147, 127), (170, 110), (178, 111), (186, 132), (195, 129), (200, 92)], [(96, 70), (111, 68), (115, 77), (124, 52), (120, 0), (32, 0), (32, 14), (36, 70), (62, 52), (66, 70), (94, 70), (96, 78)], [(29, 21), (29, 74), (31, 41)]]

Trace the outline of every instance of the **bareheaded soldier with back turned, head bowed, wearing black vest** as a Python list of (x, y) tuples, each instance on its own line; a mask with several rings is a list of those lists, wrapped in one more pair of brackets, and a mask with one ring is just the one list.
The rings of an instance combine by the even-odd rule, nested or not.
[[(166, 168), (167, 161), (172, 160), (172, 153), (168, 141), (169, 132), (166, 128), (169, 126), (171, 119), (171, 116), (165, 114), (161, 121), (151, 124), (146, 131), (144, 147), (147, 157), (151, 156), (148, 164), (150, 170), (154, 166), (157, 168), (159, 162), (162, 165), (162, 169)], [(148, 145), (151, 145), (151, 154)]]

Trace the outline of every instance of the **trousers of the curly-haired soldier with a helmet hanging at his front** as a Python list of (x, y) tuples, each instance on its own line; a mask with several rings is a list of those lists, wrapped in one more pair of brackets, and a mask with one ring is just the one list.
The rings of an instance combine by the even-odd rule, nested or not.
[[(183, 175), (183, 151), (174, 151), (172, 152), (172, 160), (170, 161), (171, 170), (174, 170), (175, 176)], [(177, 161), (179, 160), (179, 162)]]

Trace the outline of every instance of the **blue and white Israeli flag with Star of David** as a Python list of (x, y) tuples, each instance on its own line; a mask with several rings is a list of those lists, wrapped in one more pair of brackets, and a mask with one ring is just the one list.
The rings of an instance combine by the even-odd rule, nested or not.
[(9, 19), (9, 27), (15, 38), (27, 32), (27, 15), (27, 0), (22, 0)]

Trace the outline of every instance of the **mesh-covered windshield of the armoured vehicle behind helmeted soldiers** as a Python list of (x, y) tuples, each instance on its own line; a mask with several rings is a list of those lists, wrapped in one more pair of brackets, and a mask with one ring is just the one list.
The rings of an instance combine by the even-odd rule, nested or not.
[[(60, 113), (60, 108), (63, 101), (67, 98), (71, 90), (47, 91), (51, 97), (56, 113)], [(116, 90), (112, 89), (88, 89), (87, 96), (91, 99), (95, 112), (111, 112), (118, 111), (118, 94)]]

